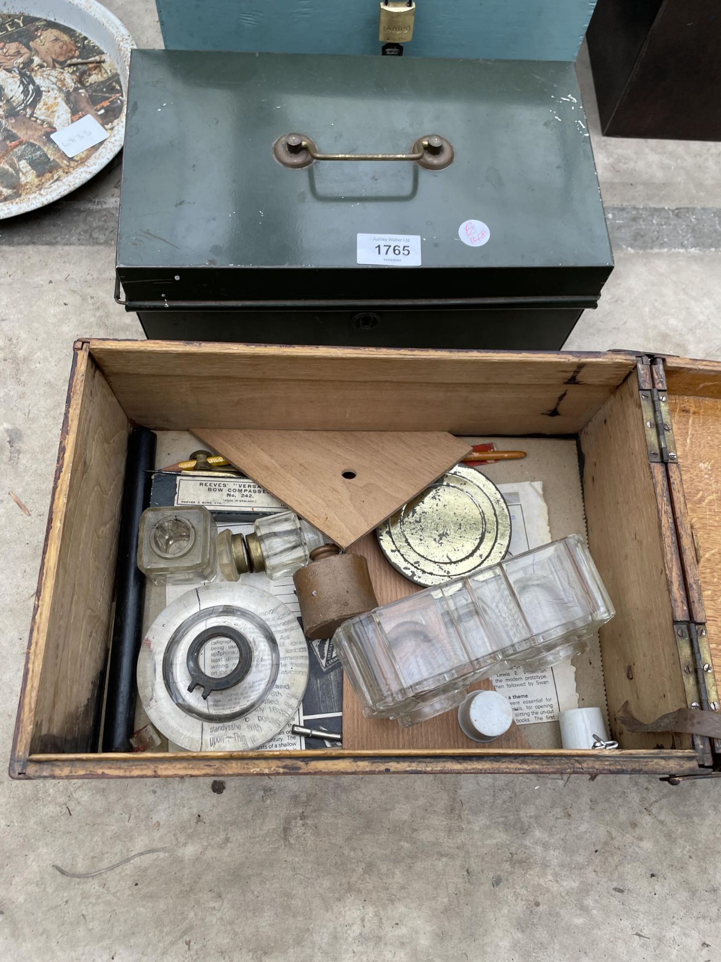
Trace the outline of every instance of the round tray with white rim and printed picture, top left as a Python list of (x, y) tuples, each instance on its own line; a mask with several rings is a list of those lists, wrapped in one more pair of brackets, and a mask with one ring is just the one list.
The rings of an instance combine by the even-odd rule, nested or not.
[(0, 219), (58, 200), (112, 161), (134, 46), (95, 0), (0, 0)]

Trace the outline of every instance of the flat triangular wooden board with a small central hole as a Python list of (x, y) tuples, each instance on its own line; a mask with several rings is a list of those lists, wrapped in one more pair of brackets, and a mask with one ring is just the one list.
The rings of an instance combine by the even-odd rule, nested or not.
[(341, 548), (470, 450), (442, 431), (190, 430)]

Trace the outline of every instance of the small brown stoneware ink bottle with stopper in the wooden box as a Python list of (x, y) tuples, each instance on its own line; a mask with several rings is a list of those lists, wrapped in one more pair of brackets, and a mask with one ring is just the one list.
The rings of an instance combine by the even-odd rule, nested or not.
[(340, 554), (336, 544), (311, 551), (311, 561), (293, 575), (303, 630), (310, 639), (330, 638), (343, 621), (378, 607), (360, 554)]

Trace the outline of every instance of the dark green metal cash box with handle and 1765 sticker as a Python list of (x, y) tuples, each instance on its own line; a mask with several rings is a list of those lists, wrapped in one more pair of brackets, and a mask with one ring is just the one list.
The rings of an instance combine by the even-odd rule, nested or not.
[(573, 63), (133, 52), (148, 337), (557, 350), (612, 266)]

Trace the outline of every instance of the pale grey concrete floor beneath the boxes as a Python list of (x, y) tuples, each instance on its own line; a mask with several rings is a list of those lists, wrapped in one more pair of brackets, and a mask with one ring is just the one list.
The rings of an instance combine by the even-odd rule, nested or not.
[[(108, 6), (158, 45), (148, 0)], [(568, 346), (720, 358), (721, 145), (602, 139), (580, 69), (617, 267)], [(6, 757), (71, 343), (140, 336), (112, 302), (118, 182), (0, 224)], [(0, 797), (3, 959), (721, 960), (717, 783), (3, 778)]]

